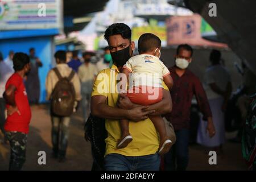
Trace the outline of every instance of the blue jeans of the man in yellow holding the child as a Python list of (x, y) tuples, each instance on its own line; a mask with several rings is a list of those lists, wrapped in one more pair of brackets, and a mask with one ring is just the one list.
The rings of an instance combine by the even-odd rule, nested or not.
[(105, 156), (106, 171), (159, 171), (160, 156), (158, 154), (144, 156), (125, 156), (108, 154)]

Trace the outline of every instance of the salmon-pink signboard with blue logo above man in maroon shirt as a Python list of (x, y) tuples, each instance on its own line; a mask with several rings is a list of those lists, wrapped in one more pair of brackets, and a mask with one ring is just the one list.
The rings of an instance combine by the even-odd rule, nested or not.
[[(227, 47), (226, 44), (210, 42), (201, 37), (201, 31), (212, 32), (211, 27), (201, 28), (201, 16), (171, 16), (166, 19), (167, 45), (191, 44), (192, 46)], [(206, 22), (205, 22), (206, 23)]]

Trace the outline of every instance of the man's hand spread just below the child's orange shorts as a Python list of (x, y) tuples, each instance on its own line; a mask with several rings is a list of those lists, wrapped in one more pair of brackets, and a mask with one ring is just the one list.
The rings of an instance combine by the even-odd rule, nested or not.
[(127, 110), (127, 118), (131, 121), (142, 121), (148, 118), (149, 114), (155, 113), (155, 110), (148, 110), (148, 106), (138, 106), (133, 109)]

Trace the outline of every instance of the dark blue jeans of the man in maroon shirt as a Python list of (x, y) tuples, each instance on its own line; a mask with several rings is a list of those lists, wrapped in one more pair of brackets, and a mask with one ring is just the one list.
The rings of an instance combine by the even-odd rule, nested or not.
[(164, 155), (164, 170), (185, 171), (188, 166), (189, 129), (175, 131), (176, 143)]

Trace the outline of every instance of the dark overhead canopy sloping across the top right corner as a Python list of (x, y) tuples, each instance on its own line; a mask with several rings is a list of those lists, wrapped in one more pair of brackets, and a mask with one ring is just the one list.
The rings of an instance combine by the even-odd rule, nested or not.
[[(209, 3), (216, 3), (217, 16), (210, 17)], [(255, 0), (184, 0), (185, 6), (199, 13), (217, 32), (218, 39), (227, 43), (256, 73), (256, 1)]]

